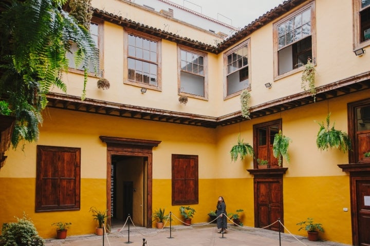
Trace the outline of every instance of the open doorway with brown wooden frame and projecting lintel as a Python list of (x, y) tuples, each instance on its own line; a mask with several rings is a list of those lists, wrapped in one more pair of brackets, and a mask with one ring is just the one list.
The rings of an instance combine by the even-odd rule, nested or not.
[[(108, 216), (113, 218), (108, 218), (108, 224), (112, 226), (116, 219), (122, 223), (127, 214), (131, 216), (132, 213), (135, 226), (151, 228), (153, 147), (161, 141), (110, 136), (99, 138), (107, 144), (106, 200)], [(127, 198), (131, 193), (132, 199)]]

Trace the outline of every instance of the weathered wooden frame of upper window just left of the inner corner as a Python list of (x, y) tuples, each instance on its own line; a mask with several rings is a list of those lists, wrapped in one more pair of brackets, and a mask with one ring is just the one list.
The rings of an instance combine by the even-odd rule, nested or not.
[[(181, 51), (193, 53), (195, 55), (203, 57), (203, 74), (200, 73), (194, 73), (193, 71), (185, 71), (181, 69)], [(195, 50), (189, 47), (177, 46), (177, 70), (178, 70), (178, 79), (177, 79), (177, 87), (178, 87), (178, 95), (188, 96), (188, 97), (194, 97), (199, 99), (208, 100), (208, 57), (207, 53), (200, 52), (199, 50)], [(186, 89), (181, 87), (181, 73), (187, 73), (190, 76), (199, 76), (203, 77), (204, 79), (204, 96), (193, 94), (190, 92), (186, 92)]]

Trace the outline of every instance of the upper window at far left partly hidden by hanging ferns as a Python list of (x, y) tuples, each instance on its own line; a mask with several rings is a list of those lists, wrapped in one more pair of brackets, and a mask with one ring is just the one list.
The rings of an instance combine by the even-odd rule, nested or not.
[[(92, 60), (88, 67), (88, 72), (91, 74), (99, 74), (102, 76), (101, 71), (102, 68), (100, 67), (100, 51), (101, 51), (101, 33), (102, 33), (102, 21), (96, 18), (93, 18), (90, 23), (90, 35), (91, 38), (94, 40), (96, 45), (96, 60)], [(67, 53), (67, 58), (69, 65), (68, 67), (74, 72), (82, 72), (84, 70), (83, 64), (76, 64), (75, 60), (75, 53), (77, 52), (77, 45), (75, 43), (71, 44), (71, 52)]]

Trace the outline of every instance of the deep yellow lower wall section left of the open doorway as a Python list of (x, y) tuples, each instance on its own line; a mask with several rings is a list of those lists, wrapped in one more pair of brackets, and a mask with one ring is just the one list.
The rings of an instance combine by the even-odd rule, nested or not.
[(0, 197), (6, 197), (1, 206), (0, 224), (16, 222), (14, 216), (22, 218), (25, 212), (43, 238), (53, 238), (57, 235), (55, 226), (51, 224), (58, 221), (72, 223), (67, 236), (94, 233), (97, 223), (93, 220), (89, 209), (91, 206), (101, 210), (106, 208), (104, 179), (81, 179), (80, 211), (35, 213), (34, 178), (0, 178), (0, 187)]

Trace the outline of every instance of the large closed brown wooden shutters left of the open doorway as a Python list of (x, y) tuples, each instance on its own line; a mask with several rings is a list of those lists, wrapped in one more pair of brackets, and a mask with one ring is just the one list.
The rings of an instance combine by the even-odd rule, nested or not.
[(80, 209), (80, 148), (38, 146), (36, 212)]

